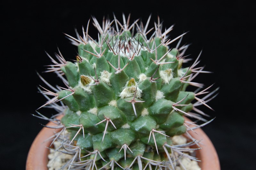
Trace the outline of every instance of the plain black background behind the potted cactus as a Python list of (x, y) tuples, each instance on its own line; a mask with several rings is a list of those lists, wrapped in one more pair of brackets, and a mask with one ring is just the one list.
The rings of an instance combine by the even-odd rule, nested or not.
[[(24, 169), (29, 147), (36, 134), (46, 124), (33, 116), (46, 100), (37, 93), (44, 85), (36, 75), (50, 64), (44, 50), (53, 55), (60, 48), (63, 56), (74, 58), (76, 47), (62, 33), (75, 36), (74, 27), (82, 33), (82, 25), (94, 15), (122, 20), (122, 12), (132, 21), (141, 18), (146, 23), (157, 15), (164, 27), (175, 24), (171, 37), (189, 31), (183, 43), (192, 43), (187, 51), (196, 58), (203, 49), (201, 65), (213, 74), (201, 74), (196, 79), (206, 86), (216, 82), (220, 94), (209, 105), (215, 112), (201, 107), (216, 119), (203, 128), (211, 138), (222, 169), (253, 169), (255, 161), (255, 16), (252, 4), (245, 1), (182, 2), (182, 1), (84, 1), (9, 2), (1, 6), (1, 169)], [(254, 23), (253, 23), (254, 22)], [(151, 26), (153, 22), (151, 22)], [(95, 28), (89, 34), (97, 38)], [(176, 43), (174, 43), (176, 45)], [(55, 75), (42, 73), (51, 84), (62, 85)], [(50, 116), (51, 110), (40, 110)]]

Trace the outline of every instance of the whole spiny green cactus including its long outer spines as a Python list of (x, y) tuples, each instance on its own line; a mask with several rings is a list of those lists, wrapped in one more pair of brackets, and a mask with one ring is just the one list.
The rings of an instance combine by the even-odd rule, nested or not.
[[(98, 40), (88, 35), (90, 20), (82, 36), (65, 34), (78, 47), (75, 60), (66, 61), (59, 49), (56, 59), (47, 53), (53, 64), (46, 72), (56, 73), (64, 87), (55, 88), (39, 75), (50, 88), (39, 89), (48, 99), (40, 108), (50, 107), (64, 116), (58, 120), (38, 112), (37, 117), (57, 124), (46, 127), (61, 129), (53, 141), (60, 139), (62, 152), (73, 155), (62, 168), (174, 169), (182, 156), (199, 161), (183, 153), (200, 149), (185, 148), (192, 143), (199, 146), (199, 141), (191, 138), (192, 142), (175, 146), (171, 137), (201, 127), (190, 128), (193, 123), (183, 116), (205, 121), (202, 126), (212, 121), (200, 116), (205, 113), (196, 106), (212, 109), (206, 103), (218, 89), (208, 92), (212, 86), (193, 82), (199, 73), (209, 73), (197, 67), (202, 51), (190, 67), (182, 67), (190, 60), (185, 58), (189, 45), (180, 46), (186, 33), (170, 39), (173, 26), (162, 29), (158, 18), (148, 29), (150, 18), (146, 25), (139, 19), (130, 24), (130, 15), (127, 20), (123, 15), (121, 24), (114, 16), (112, 21), (103, 19), (101, 27), (92, 17)], [(176, 47), (170, 48), (175, 41)], [(186, 91), (189, 85), (199, 90)], [(60, 135), (67, 134), (65, 130), (69, 138)]]

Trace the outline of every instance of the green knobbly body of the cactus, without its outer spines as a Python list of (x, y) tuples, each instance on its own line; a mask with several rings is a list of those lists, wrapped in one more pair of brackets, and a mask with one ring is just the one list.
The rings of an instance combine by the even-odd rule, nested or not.
[(194, 69), (182, 68), (179, 55), (186, 46), (169, 50), (169, 29), (147, 39), (141, 27), (135, 35), (126, 26), (115, 34), (109, 21), (102, 29), (93, 20), (100, 42), (87, 35), (73, 40), (78, 60), (61, 66), (69, 88), (57, 93), (68, 106), (62, 124), (68, 131), (80, 128), (73, 142), (90, 155), (80, 164), (85, 169), (142, 169), (149, 163), (173, 168), (166, 146), (171, 136), (187, 131), (182, 115), (189, 114), (198, 95), (186, 91)]

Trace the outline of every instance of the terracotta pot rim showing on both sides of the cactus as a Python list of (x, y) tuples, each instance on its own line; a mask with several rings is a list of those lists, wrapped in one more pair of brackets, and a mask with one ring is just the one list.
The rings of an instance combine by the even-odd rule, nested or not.
[[(189, 119), (185, 118), (187, 121)], [(47, 124), (48, 126), (55, 125), (52, 122)], [(53, 135), (53, 132), (58, 132), (60, 129), (43, 128), (36, 136), (28, 152), (28, 158), (26, 163), (26, 170), (47, 170), (48, 154), (49, 150), (45, 147), (49, 147), (52, 141), (45, 141), (47, 138)], [(198, 162), (202, 170), (220, 170), (220, 162), (217, 152), (201, 128), (195, 130), (196, 133), (189, 131), (189, 134), (204, 143), (201, 150), (196, 151), (196, 157), (202, 162)]]

